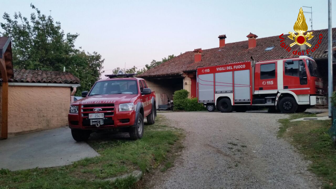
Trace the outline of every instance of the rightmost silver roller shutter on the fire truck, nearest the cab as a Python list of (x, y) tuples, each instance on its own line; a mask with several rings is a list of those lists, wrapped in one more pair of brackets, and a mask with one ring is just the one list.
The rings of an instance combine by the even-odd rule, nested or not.
[(250, 100), (250, 70), (235, 71), (235, 101)]

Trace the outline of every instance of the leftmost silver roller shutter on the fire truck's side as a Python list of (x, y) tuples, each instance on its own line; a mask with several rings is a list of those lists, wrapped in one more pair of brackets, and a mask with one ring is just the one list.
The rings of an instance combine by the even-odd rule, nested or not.
[(198, 76), (199, 101), (214, 101), (213, 74), (202, 74)]

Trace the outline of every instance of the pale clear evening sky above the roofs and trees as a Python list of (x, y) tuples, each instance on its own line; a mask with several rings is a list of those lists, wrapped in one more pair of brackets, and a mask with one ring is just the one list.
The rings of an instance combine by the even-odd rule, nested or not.
[[(103, 0), (1, 0), (0, 14), (21, 12), (29, 17), (33, 3), (43, 14), (61, 23), (65, 33), (80, 34), (76, 47), (96, 51), (105, 59), (104, 74), (116, 67), (141, 69), (152, 60), (161, 61), (196, 48), (219, 46), (247, 40), (252, 32), (258, 38), (289, 31), (302, 6), (311, 6), (313, 30), (328, 28), (328, 1), (103, 1)], [(310, 12), (310, 8), (302, 7)], [(336, 27), (336, 1), (332, 5), (332, 26)], [(308, 30), (310, 13), (304, 13)], [(3, 22), (0, 18), (0, 22)], [(258, 40), (257, 38), (257, 40)]]

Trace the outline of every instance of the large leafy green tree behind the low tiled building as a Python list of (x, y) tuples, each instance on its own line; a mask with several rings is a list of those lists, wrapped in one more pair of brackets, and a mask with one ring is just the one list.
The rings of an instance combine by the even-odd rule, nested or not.
[(30, 14), (30, 19), (20, 12), (15, 12), (12, 19), (5, 12), (2, 16), (5, 22), (0, 23), (3, 30), (0, 35), (12, 37), (14, 69), (63, 71), (66, 67), (81, 80), (77, 94), (89, 90), (103, 73), (104, 59), (97, 52), (76, 49), (74, 43), (79, 34), (65, 34), (59, 22), (41, 14), (33, 4), (30, 6), (36, 11)]

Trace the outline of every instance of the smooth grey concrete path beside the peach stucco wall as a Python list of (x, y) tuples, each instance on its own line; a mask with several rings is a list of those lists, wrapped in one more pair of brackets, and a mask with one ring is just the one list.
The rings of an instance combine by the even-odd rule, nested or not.
[(76, 142), (65, 127), (0, 141), (0, 168), (11, 171), (68, 165), (98, 155), (87, 143)]

